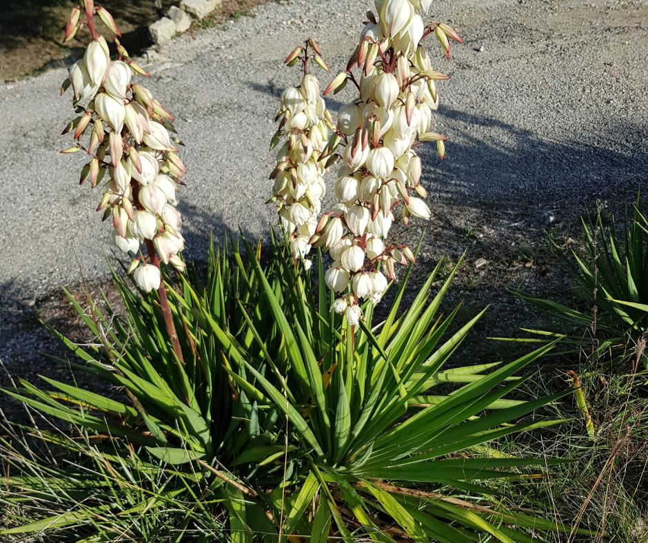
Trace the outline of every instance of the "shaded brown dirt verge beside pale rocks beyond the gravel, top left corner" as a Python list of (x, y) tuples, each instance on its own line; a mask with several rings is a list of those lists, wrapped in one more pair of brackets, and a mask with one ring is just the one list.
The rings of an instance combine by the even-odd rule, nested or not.
[[(254, 16), (252, 8), (269, 0), (225, 0), (218, 10), (203, 21), (194, 21), (190, 32), (197, 32), (228, 20)], [(283, 0), (274, 0), (283, 1)], [(114, 17), (129, 54), (141, 54), (152, 45), (148, 25), (163, 17), (180, 0), (161, 0), (156, 9), (153, 0), (104, 0), (98, 6)], [(4, 0), (0, 8), (0, 81), (18, 81), (49, 68), (69, 66), (83, 55), (90, 40), (87, 29), (63, 43), (65, 25), (78, 1)], [(97, 30), (112, 36), (97, 18)]]

